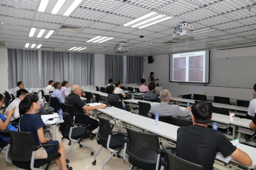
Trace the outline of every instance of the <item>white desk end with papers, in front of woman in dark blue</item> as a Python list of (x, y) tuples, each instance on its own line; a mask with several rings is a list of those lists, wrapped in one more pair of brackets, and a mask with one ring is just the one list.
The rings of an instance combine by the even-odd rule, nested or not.
[[(41, 118), (45, 125), (51, 127), (52, 140), (56, 140), (56, 125), (61, 124), (62, 122), (64, 122), (64, 120), (59, 120), (58, 113), (41, 115)], [(49, 118), (54, 118), (54, 120), (48, 121)]]

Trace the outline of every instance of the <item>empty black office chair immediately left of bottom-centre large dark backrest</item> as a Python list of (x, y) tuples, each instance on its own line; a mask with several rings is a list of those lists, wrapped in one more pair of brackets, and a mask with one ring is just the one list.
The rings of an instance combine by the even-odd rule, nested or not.
[(103, 148), (108, 149), (111, 151), (111, 155), (106, 159), (106, 161), (102, 164), (102, 169), (104, 169), (105, 165), (111, 160), (114, 154), (117, 154), (118, 157), (122, 156), (123, 153), (121, 153), (123, 146), (124, 146), (124, 138), (126, 135), (121, 132), (113, 132), (113, 125), (110, 124), (108, 120), (105, 120), (104, 118), (99, 119), (99, 127), (97, 132), (97, 142), (98, 144), (101, 144), (101, 147), (97, 150), (97, 152), (94, 154), (93, 157), (93, 165), (96, 165), (96, 157), (99, 154), (99, 151), (101, 151)]

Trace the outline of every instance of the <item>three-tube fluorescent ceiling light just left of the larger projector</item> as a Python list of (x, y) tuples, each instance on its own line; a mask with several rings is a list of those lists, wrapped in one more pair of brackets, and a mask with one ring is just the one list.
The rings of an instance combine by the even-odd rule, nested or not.
[(139, 17), (138, 19), (132, 20), (129, 23), (124, 24), (123, 26), (125, 27), (129, 26), (131, 28), (141, 29), (141, 28), (151, 26), (153, 24), (160, 23), (165, 20), (169, 20), (171, 18), (172, 17), (170, 16), (161, 15), (157, 12), (151, 12), (151, 13), (148, 13), (147, 15)]

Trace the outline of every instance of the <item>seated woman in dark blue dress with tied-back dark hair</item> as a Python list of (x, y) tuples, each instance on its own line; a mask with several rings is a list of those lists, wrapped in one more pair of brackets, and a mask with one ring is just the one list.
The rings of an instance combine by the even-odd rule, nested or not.
[[(58, 140), (50, 140), (44, 137), (43, 126), (45, 126), (39, 115), (35, 115), (35, 111), (40, 109), (39, 98), (36, 95), (27, 95), (19, 104), (19, 110), (22, 117), (20, 118), (20, 131), (30, 132), (33, 136), (35, 145), (56, 144), (61, 157), (56, 160), (59, 169), (72, 170), (72, 167), (66, 166), (65, 147)], [(54, 151), (54, 147), (45, 147), (47, 153)], [(68, 167), (68, 168), (67, 168)]]

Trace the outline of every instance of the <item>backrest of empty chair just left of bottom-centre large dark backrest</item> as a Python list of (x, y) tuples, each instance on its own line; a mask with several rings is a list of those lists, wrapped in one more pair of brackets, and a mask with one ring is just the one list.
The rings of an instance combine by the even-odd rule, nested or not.
[(112, 131), (111, 124), (108, 120), (105, 120), (104, 118), (98, 117), (99, 119), (99, 129), (97, 132), (97, 138), (101, 143), (108, 142), (108, 135)]

